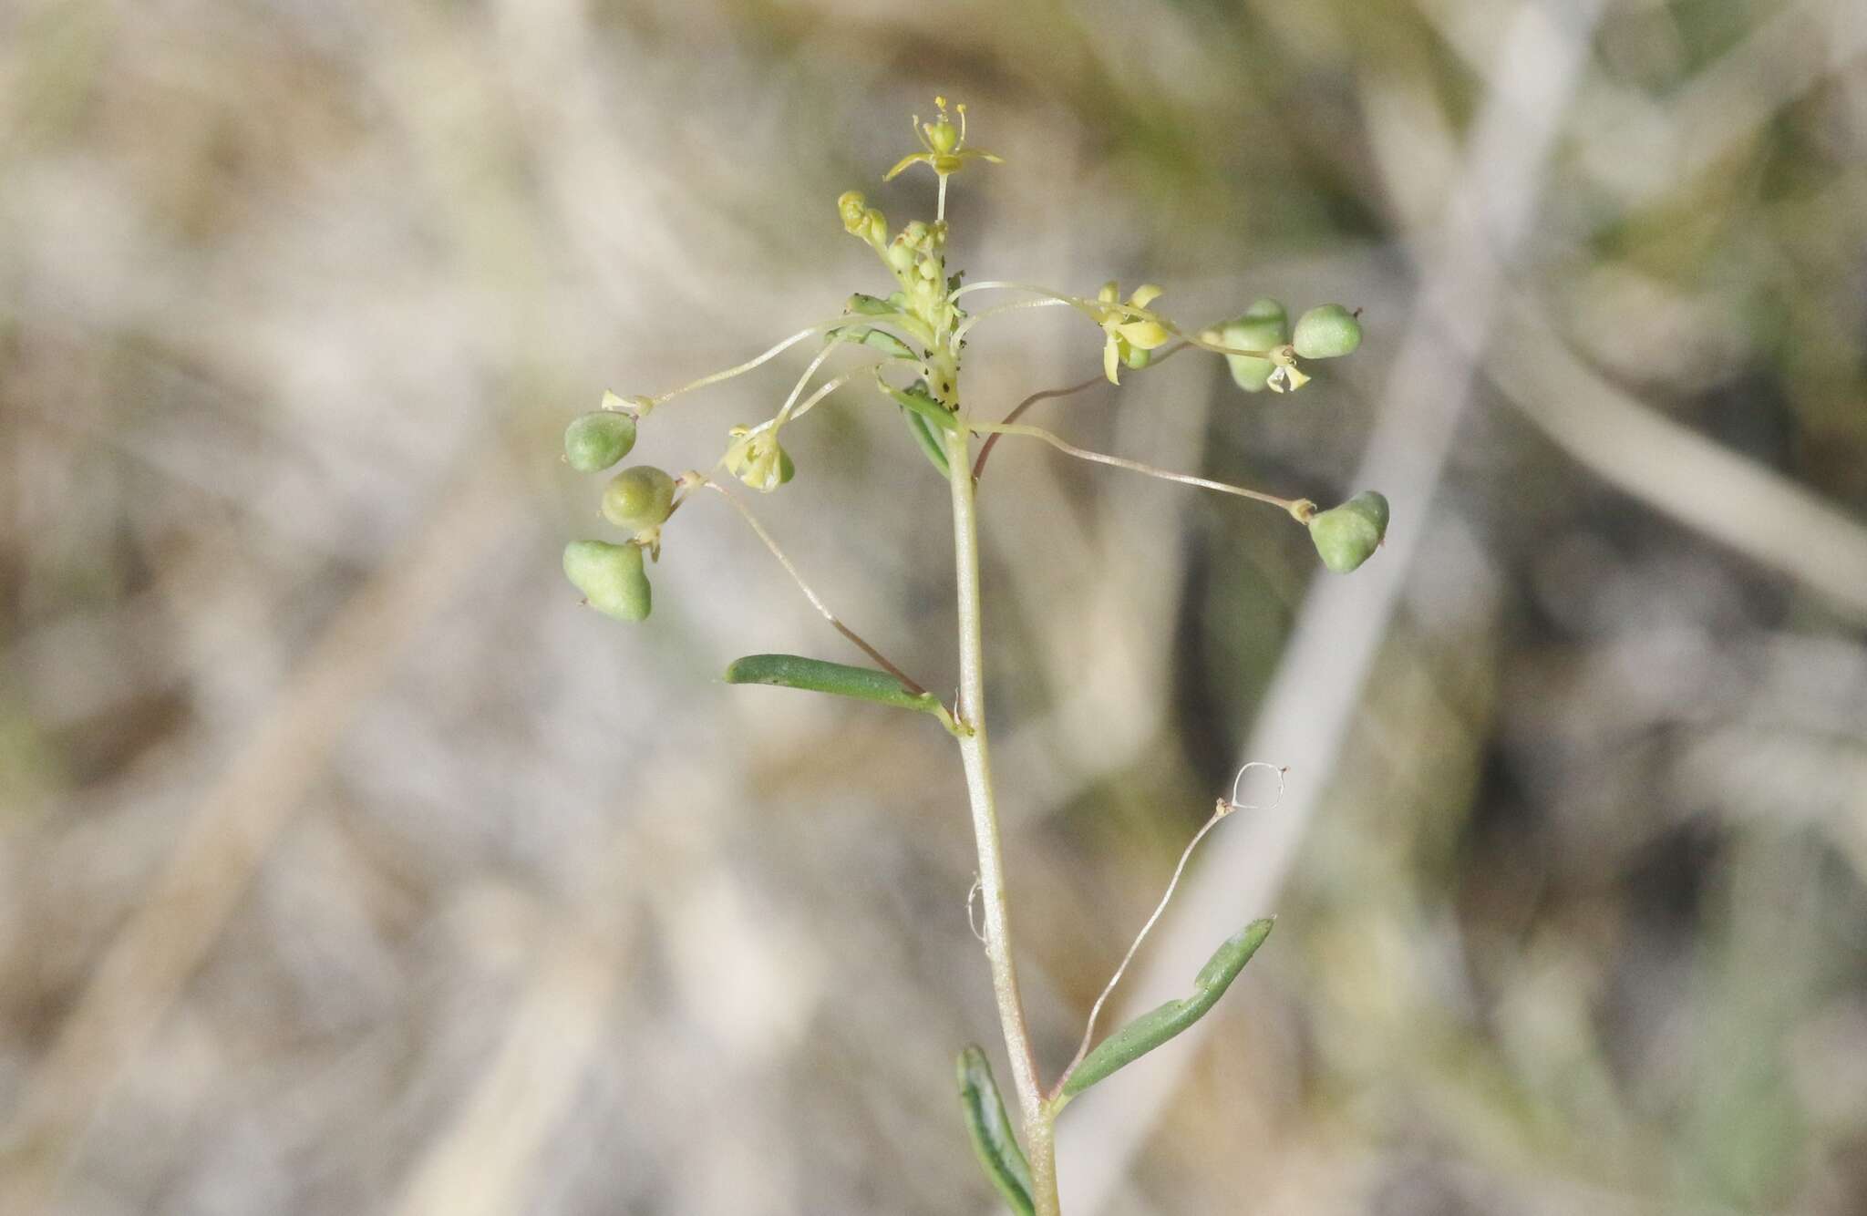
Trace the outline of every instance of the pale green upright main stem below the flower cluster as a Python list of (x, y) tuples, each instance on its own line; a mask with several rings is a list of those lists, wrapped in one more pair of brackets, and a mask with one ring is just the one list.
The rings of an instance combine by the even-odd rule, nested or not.
[(1004, 893), (1004, 850), (999, 842), (999, 811), (991, 788), (991, 753), (986, 742), (986, 648), (978, 596), (978, 512), (973, 502), (973, 461), (967, 433), (947, 435), (948, 486), (952, 488), (954, 581), (960, 601), (960, 715), (967, 727), (960, 734), (960, 760), (965, 766), (965, 792), (973, 803), (973, 837), (978, 844), (978, 891), (986, 908), (986, 958), (991, 962), (991, 994), (999, 1003), (1004, 1052), (1012, 1061), (1012, 1083), (1025, 1123), (1025, 1152), (1031, 1158), (1031, 1199), (1038, 1216), (1060, 1216), (1057, 1199), (1055, 1117), (1044, 1104), (1025, 1005), (1018, 992), (1018, 964), (1012, 958), (1010, 898)]

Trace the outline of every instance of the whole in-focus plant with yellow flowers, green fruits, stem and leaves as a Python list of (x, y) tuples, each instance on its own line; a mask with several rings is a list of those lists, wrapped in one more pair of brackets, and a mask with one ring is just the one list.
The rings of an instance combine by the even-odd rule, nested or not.
[[(1036, 439), (1079, 460), (1268, 502), (1298, 525), (1307, 527), (1324, 566), (1339, 573), (1361, 566), (1382, 544), (1387, 530), (1387, 501), (1378, 493), (1363, 491), (1333, 510), (1316, 510), (1309, 499), (1283, 499), (1258, 489), (1154, 469), (1120, 456), (1079, 448), (1053, 431), (1021, 424), (1018, 418), (1040, 400), (1081, 392), (1102, 379), (1120, 383), (1124, 368), (1144, 372), (1182, 349), (1225, 355), (1232, 379), (1247, 392), (1258, 392), (1266, 387), (1273, 392), (1294, 392), (1311, 379), (1301, 361), (1324, 361), (1352, 353), (1361, 344), (1361, 325), (1355, 312), (1341, 304), (1322, 304), (1299, 316), (1292, 327), (1281, 303), (1258, 299), (1232, 321), (1187, 331), (1154, 306), (1163, 295), (1161, 288), (1154, 284), (1135, 288), (1126, 299), (1115, 282), (1103, 284), (1092, 297), (1019, 282), (963, 284), (963, 273), (947, 262), (947, 181), (969, 164), (980, 161), (995, 164), (999, 157), (967, 146), (963, 105), (954, 106), (958, 123), (948, 116), (943, 97), (935, 99), (935, 106), (934, 121), (915, 118), (920, 151), (904, 157), (889, 170), (889, 177), (915, 164), (926, 164), (934, 170), (939, 194), (932, 220), (911, 220), (894, 230), (881, 211), (868, 205), (863, 194), (849, 191), (836, 200), (844, 230), (876, 250), (876, 258), (892, 280), (887, 293), (857, 291), (844, 303), (838, 316), (797, 331), (736, 368), (706, 375), (672, 392), (629, 398), (605, 394), (601, 409), (569, 424), (564, 433), (564, 460), (579, 473), (607, 471), (629, 456), (640, 424), (670, 400), (745, 375), (793, 346), (812, 338), (820, 340), (816, 355), (777, 413), (764, 422), (736, 426), (728, 431), (724, 454), (715, 463), (715, 471), (723, 469), (726, 478), (717, 476), (715, 471), (698, 469), (670, 476), (653, 465), (633, 465), (616, 473), (603, 489), (601, 514), (622, 530), (622, 538), (573, 540), (564, 549), (564, 573), (599, 613), (618, 620), (644, 620), (652, 607), (646, 562), (659, 559), (663, 530), (689, 501), (702, 493), (715, 493), (745, 517), (805, 598), (810, 600), (810, 605), (870, 661), (870, 665), (853, 667), (790, 654), (760, 654), (734, 661), (726, 669), (726, 680), (808, 689), (917, 710), (937, 719), (956, 740), (978, 846), (975, 895), (984, 910), (980, 938), (991, 966), (991, 986), (1018, 1095), (1019, 1121), (1014, 1126), (1006, 1117), (991, 1067), (976, 1046), (960, 1053), (962, 1113), (973, 1149), (1006, 1203), (1023, 1214), (1055, 1214), (1060, 1210), (1055, 1166), (1057, 1113), (1096, 1082), (1152, 1052), (1204, 1016), (1264, 943), (1271, 921), (1255, 921), (1228, 938), (1193, 977), (1189, 996), (1141, 1014), (1100, 1042), (1096, 1040), (1096, 1018), (1103, 1001), (1115, 990), (1128, 960), (1133, 958), (1135, 949), (1154, 926), (1167, 898), (1172, 897), (1193, 848), (1238, 807), (1234, 786), (1232, 796), (1219, 799), (1212, 818), (1182, 854), (1167, 897), (1161, 898), (1154, 917), (1130, 945), (1128, 958), (1122, 960), (1090, 1011), (1075, 1057), (1055, 1080), (1047, 1083), (1042, 1080), (1025, 1029), (1018, 968), (1012, 956), (1010, 898), (999, 846), (999, 816), (986, 734), (978, 523), (973, 493), (986, 471), (991, 445), (1003, 435)], [(1010, 299), (973, 310), (978, 295), (988, 291)], [(967, 336), (990, 318), (1018, 308), (1042, 306), (1074, 308), (1102, 329), (1102, 375), (1068, 389), (1036, 392), (1003, 420), (990, 420), (975, 413), (962, 394)], [(829, 359), (844, 349), (859, 355), (855, 366), (818, 383), (818, 374)], [(870, 400), (892, 403), (900, 411), (913, 445), (950, 488), (960, 635), (960, 687), (950, 706), (831, 613), (758, 517), (728, 488), (730, 480), (737, 480), (760, 493), (771, 493), (788, 484), (795, 467), (784, 450), (784, 428), (801, 424), (818, 403), (853, 383), (868, 387), (874, 392)], [(975, 435), (982, 437), (976, 456), (973, 450)]]

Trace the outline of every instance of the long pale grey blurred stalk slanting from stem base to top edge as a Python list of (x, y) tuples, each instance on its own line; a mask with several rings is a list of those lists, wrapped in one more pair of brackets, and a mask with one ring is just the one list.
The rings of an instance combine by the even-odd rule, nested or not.
[[(1419, 544), (1434, 486), (1451, 450), (1458, 417), (1471, 394), (1492, 301), (1501, 290), (1501, 263), (1523, 239), (1540, 200), (1544, 166), (1587, 62), (1600, 7), (1585, 4), (1555, 13), (1540, 4), (1516, 9), (1492, 64), (1488, 95), (1467, 142), (1464, 168), (1445, 196), (1441, 224), (1415, 241), (1421, 308), (1395, 361), (1387, 407), (1369, 441), (1355, 488), (1380, 486), (1408, 504), (1411, 525), (1387, 536), (1387, 553), (1355, 583), (1318, 581), (1264, 697), (1262, 723), (1247, 756), (1266, 756), (1298, 775), (1329, 771), (1354, 714), (1357, 693), (1385, 631), (1402, 577)], [(1378, 99), (1374, 99), (1378, 105)], [(1495, 254), (1495, 260), (1494, 260)], [(1447, 329), (1469, 327), (1464, 342)], [(1314, 777), (1313, 777), (1314, 779)], [(1144, 1005), (1156, 992), (1191, 975), (1215, 932), (1228, 932), (1266, 910), (1303, 839), (1316, 805), (1316, 786), (1296, 786), (1277, 811), (1255, 813), (1234, 835), (1215, 842), (1191, 876), (1174, 928), (1158, 941), (1137, 977)], [(1187, 1035), (1212, 1033), (1215, 1020)], [(1083, 1104), (1062, 1136), (1072, 1210), (1103, 1210), (1122, 1173), (1172, 1098), (1195, 1052), (1163, 1052), (1113, 1095)]]

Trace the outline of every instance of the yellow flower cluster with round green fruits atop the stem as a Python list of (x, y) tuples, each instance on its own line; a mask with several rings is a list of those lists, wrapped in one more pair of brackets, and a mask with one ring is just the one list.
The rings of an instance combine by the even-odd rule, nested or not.
[[(947, 179), (967, 164), (980, 161), (999, 164), (1003, 159), (978, 148), (967, 148), (963, 105), (954, 106), (958, 123), (948, 116), (945, 97), (935, 97), (934, 105), (937, 110), (934, 121), (915, 118), (920, 151), (909, 153), (887, 174), (887, 177), (894, 177), (911, 164), (926, 164), (934, 170), (941, 192), (939, 209), (932, 220), (911, 220), (891, 228), (889, 219), (872, 207), (863, 192), (848, 191), (836, 200), (836, 215), (844, 232), (868, 245), (892, 276), (894, 286), (887, 295), (855, 293), (836, 318), (810, 325), (736, 368), (706, 375), (672, 392), (627, 398), (614, 392), (605, 394), (601, 409), (579, 417), (566, 430), (564, 460), (579, 473), (611, 469), (635, 446), (640, 420), (670, 398), (751, 372), (792, 346), (818, 338), (820, 349), (782, 407), (771, 418), (751, 426), (734, 426), (726, 435), (719, 469), (751, 489), (771, 493), (795, 476), (795, 463), (780, 443), (782, 428), (803, 418), (818, 402), (855, 379), (872, 381), (874, 389), (900, 409), (907, 433), (941, 476), (952, 474), (947, 458), (948, 435), (1025, 433), (1102, 463), (1223, 489), (1223, 486), (1200, 482), (1200, 478), (1169, 474), (1135, 461), (1083, 452), (1057, 441), (1047, 431), (1016, 426), (1016, 418), (988, 424), (967, 417), (960, 403), (960, 364), (969, 331), (999, 312), (1064, 304), (1087, 316), (1102, 331), (1102, 370), (1109, 383), (1120, 383), (1122, 368), (1146, 370), (1159, 357), (1158, 353), (1178, 338), (1182, 346), (1225, 355), (1232, 379), (1247, 392), (1258, 392), (1266, 387), (1275, 392), (1294, 392), (1311, 379), (1299, 366), (1299, 359), (1333, 359), (1352, 353), (1361, 344), (1357, 314), (1341, 304), (1311, 308), (1292, 329), (1284, 306), (1266, 297), (1232, 321), (1189, 334), (1154, 308), (1161, 288), (1152, 282), (1135, 288), (1128, 299), (1122, 299), (1115, 280), (1105, 282), (1094, 299), (1012, 282), (965, 286), (963, 275), (950, 271), (947, 263)], [(969, 312), (962, 301), (973, 291), (984, 290), (1012, 291), (1018, 299), (984, 312)], [(864, 361), (812, 389), (814, 377), (838, 349), (859, 349)], [(616, 542), (573, 542), (564, 553), (566, 575), (583, 590), (592, 607), (624, 620), (640, 620), (648, 615), (648, 579), (642, 570), (642, 555), (646, 553), (652, 560), (659, 559), (661, 527), (680, 508), (685, 493), (702, 486), (719, 488), (702, 473), (674, 478), (652, 465), (629, 467), (611, 478), (603, 491), (601, 514), (625, 536)], [(1313, 534), (1316, 521), (1322, 521), (1322, 534), (1341, 530), (1333, 521), (1342, 517), (1331, 516), (1331, 512), (1316, 514), (1303, 499), (1286, 501), (1242, 489), (1236, 493), (1283, 504), (1296, 519), (1311, 525)], [(1337, 510), (1348, 510), (1348, 506)], [(1378, 514), (1378, 523), (1367, 512), (1355, 519), (1359, 523), (1350, 532), (1363, 536), (1369, 529), (1361, 525), (1374, 525), (1378, 544), (1378, 534), (1385, 529), (1385, 506)], [(1322, 547), (1320, 540), (1318, 547)], [(1359, 551), (1359, 544), (1350, 547), (1331, 544), (1331, 551), (1324, 555), (1326, 566), (1329, 570), (1354, 568), (1367, 557), (1363, 553), (1359, 560), (1350, 560), (1355, 551)]]

